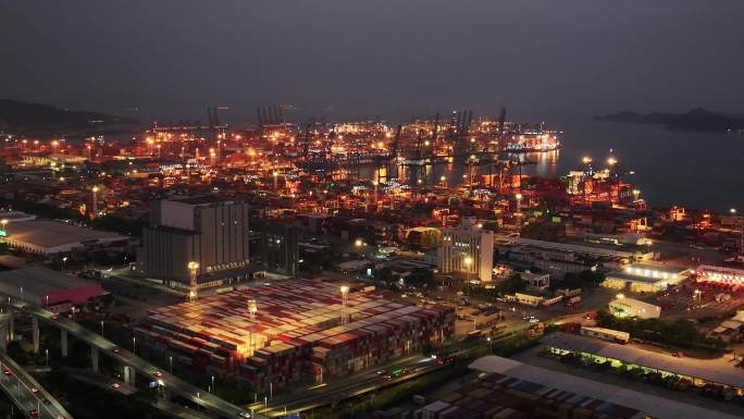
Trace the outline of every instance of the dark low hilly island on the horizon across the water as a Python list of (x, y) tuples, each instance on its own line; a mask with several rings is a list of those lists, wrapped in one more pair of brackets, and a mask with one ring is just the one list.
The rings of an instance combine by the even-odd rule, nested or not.
[(690, 133), (740, 133), (744, 134), (744, 114), (724, 114), (702, 108), (685, 113), (650, 112), (638, 113), (625, 110), (595, 118), (599, 121), (611, 121), (630, 124), (657, 124), (667, 130)]

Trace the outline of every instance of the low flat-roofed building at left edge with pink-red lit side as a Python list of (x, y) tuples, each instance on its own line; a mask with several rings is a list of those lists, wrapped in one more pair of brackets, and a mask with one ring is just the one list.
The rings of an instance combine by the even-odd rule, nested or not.
[(41, 267), (0, 272), (0, 293), (55, 311), (106, 294), (100, 283)]

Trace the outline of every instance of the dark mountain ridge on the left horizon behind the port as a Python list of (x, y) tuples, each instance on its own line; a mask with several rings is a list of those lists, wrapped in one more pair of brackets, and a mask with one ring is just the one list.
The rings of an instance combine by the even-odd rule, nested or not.
[(49, 104), (0, 99), (0, 131), (99, 131), (131, 126), (137, 121), (101, 112), (67, 110)]

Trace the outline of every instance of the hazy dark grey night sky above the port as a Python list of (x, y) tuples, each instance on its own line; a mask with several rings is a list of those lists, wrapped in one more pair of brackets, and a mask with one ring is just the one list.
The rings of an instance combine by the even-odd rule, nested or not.
[(0, 97), (234, 122), (274, 103), (744, 112), (742, 16), (741, 0), (0, 0)]

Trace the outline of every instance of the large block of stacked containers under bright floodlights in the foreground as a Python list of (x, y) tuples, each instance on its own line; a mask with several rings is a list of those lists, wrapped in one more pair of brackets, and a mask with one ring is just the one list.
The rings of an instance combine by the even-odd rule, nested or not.
[(150, 310), (138, 342), (256, 389), (325, 382), (414, 354), (454, 334), (450, 308), (419, 308), (309, 280)]

